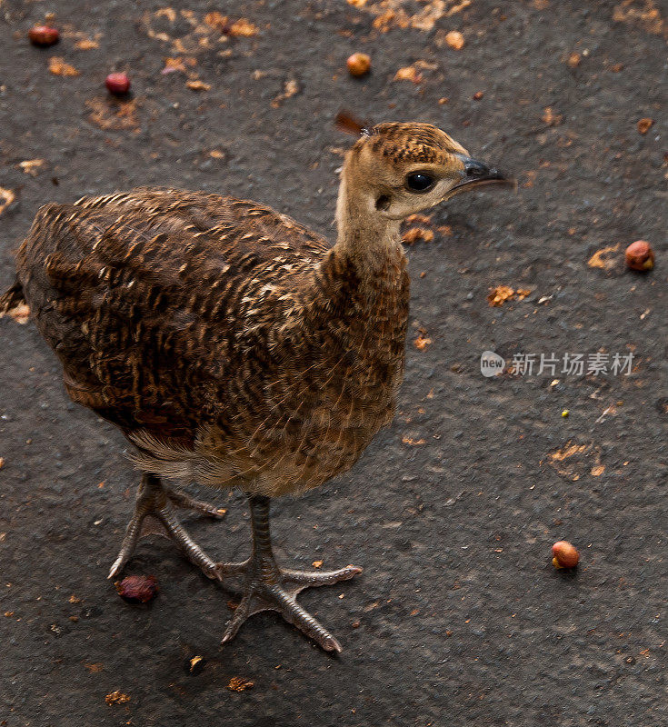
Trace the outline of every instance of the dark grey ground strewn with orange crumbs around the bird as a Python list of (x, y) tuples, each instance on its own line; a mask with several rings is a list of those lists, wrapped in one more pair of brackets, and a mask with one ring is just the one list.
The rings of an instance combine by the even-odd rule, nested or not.
[[(123, 603), (105, 575), (137, 482), (124, 441), (68, 403), (32, 325), (0, 321), (0, 725), (668, 723), (666, 8), (447, 0), (431, 29), (397, 27), (401, 14), (378, 29), (390, 6), (422, 8), (423, 26), (438, 10), (381, 5), (0, 1), (0, 186), (15, 194), (0, 287), (40, 204), (137, 184), (251, 197), (333, 234), (342, 106), (439, 124), (520, 183), (434, 214), (434, 241), (410, 251), (394, 424), (347, 476), (274, 504), (284, 562), (365, 567), (301, 597), (344, 643), (337, 658), (272, 614), (220, 650), (229, 594), (164, 540), (127, 569), (154, 573), (159, 597)], [(46, 10), (65, 33), (42, 51), (25, 31)], [(258, 35), (220, 42), (214, 10)], [(77, 49), (84, 38), (98, 47)], [(354, 50), (373, 59), (362, 82), (344, 69)], [(52, 56), (80, 75), (50, 74)], [(163, 75), (167, 57), (182, 60)], [(393, 81), (415, 62), (419, 83)], [(116, 68), (133, 77), (129, 105), (107, 100)], [(17, 166), (34, 159), (35, 175)], [(657, 252), (645, 276), (616, 262), (638, 238)], [(587, 264), (614, 245), (609, 269)], [(491, 307), (500, 284), (531, 293)], [(633, 373), (487, 379), (486, 349), (633, 353)], [(244, 500), (220, 503), (222, 523), (189, 524), (211, 553), (241, 556)], [(563, 537), (581, 549), (577, 573), (550, 565)], [(229, 690), (234, 676), (253, 688)], [(115, 691), (129, 701), (107, 705)]]

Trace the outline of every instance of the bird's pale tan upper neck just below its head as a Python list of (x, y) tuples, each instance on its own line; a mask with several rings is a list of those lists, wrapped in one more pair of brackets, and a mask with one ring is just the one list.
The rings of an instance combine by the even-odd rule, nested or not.
[(369, 197), (355, 192), (345, 174), (336, 203), (338, 230), (334, 251), (353, 262), (362, 278), (373, 277), (388, 262), (404, 258), (399, 220), (390, 220), (373, 208)]

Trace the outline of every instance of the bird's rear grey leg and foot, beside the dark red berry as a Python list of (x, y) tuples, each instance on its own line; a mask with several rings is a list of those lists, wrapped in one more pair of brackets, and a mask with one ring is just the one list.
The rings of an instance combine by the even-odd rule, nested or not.
[[(202, 548), (194, 542), (190, 535), (184, 530), (184, 527), (176, 519), (174, 514), (174, 505), (176, 507), (188, 508), (197, 513), (203, 513), (211, 517), (220, 517), (224, 511), (217, 510), (213, 505), (201, 503), (194, 500), (180, 490), (165, 487), (155, 474), (145, 473), (142, 477), (142, 483), (137, 491), (137, 499), (135, 504), (135, 514), (127, 524), (125, 530), (125, 538), (121, 545), (121, 551), (118, 553), (114, 564), (109, 572), (109, 578), (114, 578), (121, 572), (125, 563), (135, 551), (135, 546), (139, 538), (145, 534), (165, 534), (184, 551), (185, 557), (197, 565), (204, 571), (204, 575), (209, 578), (216, 578), (216, 564), (204, 553)], [(155, 531), (150, 528), (143, 528), (145, 519), (151, 518), (161, 527), (161, 531)]]

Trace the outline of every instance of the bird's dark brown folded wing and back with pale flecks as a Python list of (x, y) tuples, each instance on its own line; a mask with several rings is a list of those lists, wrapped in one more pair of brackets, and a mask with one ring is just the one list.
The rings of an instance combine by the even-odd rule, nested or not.
[(191, 443), (244, 336), (297, 305), (329, 245), (252, 202), (138, 189), (50, 204), (18, 271), (75, 401), (125, 432)]

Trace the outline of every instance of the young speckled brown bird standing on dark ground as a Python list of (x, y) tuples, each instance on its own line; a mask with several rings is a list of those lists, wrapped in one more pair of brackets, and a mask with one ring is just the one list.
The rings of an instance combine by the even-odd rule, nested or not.
[[(143, 471), (110, 577), (149, 517), (204, 573), (243, 579), (224, 632), (273, 609), (327, 651), (339, 642), (296, 595), (352, 578), (274, 560), (269, 501), (350, 469), (394, 414), (409, 277), (404, 217), (508, 184), (431, 124), (379, 124), (345, 156), (331, 246), (294, 220), (218, 194), (141, 187), (46, 204), (0, 314), (28, 304), (76, 403), (115, 423)], [(164, 480), (247, 493), (253, 548), (216, 563), (175, 507), (214, 515)]]

